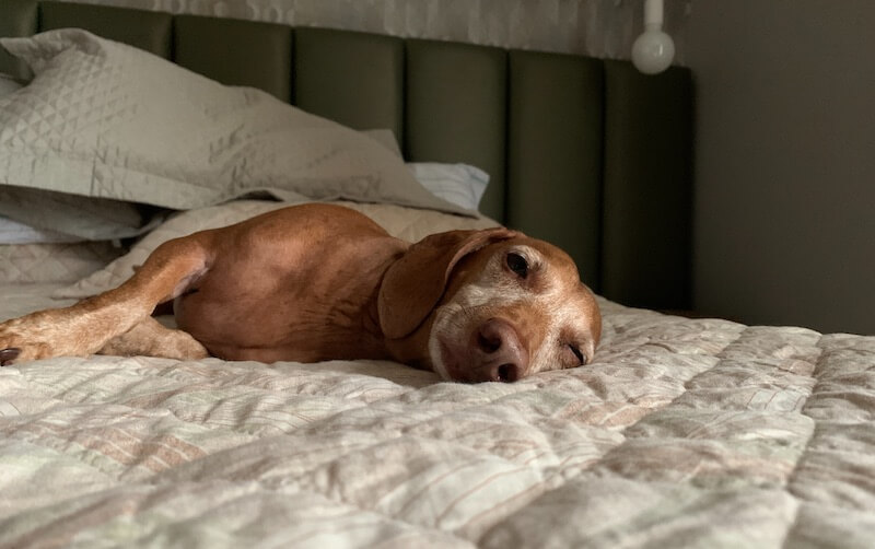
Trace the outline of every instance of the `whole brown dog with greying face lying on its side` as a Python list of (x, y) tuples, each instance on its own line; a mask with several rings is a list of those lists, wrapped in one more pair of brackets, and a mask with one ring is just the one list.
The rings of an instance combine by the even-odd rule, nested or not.
[[(179, 330), (150, 314), (175, 300)], [(0, 324), (0, 362), (149, 354), (390, 359), (512, 382), (585, 364), (598, 306), (571, 258), (506, 229), (416, 244), (348, 208), (283, 208), (159, 246), (115, 290)]]

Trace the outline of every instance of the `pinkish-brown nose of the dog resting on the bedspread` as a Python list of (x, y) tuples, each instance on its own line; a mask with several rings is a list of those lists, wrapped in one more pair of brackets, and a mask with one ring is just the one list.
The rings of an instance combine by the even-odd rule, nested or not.
[(515, 382), (528, 370), (528, 350), (516, 328), (501, 318), (490, 318), (477, 329), (477, 362), (474, 382)]

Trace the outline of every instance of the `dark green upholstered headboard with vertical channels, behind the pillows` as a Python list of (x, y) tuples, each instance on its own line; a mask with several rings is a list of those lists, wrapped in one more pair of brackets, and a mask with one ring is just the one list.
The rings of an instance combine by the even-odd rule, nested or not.
[[(409, 161), (464, 162), (481, 211), (567, 249), (620, 303), (687, 308), (690, 72), (368, 33), (2, 0), (0, 36), (82, 27), (355, 129), (392, 129)], [(24, 68), (0, 52), (0, 72)]]

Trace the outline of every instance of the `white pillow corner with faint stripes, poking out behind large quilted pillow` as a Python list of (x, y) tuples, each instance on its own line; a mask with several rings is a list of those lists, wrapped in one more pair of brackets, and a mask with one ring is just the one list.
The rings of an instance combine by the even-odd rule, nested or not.
[(489, 185), (489, 174), (468, 164), (411, 162), (407, 167), (432, 195), (468, 210), (478, 209)]

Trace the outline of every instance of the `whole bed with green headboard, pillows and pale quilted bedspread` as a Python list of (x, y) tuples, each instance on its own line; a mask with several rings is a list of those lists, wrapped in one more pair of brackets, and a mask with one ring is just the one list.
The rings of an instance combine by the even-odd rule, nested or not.
[[(19, 43), (30, 62), (3, 54), (1, 73), (34, 70), (45, 82), (45, 63), (70, 44), (115, 51), (103, 36), (158, 56), (122, 51), (140, 60), (137, 91), (167, 94), (147, 109), (154, 119), (194, 78), (158, 59), (167, 58), (212, 79), (191, 83), (195, 96), (267, 108), (266, 124), (285, 120), (287, 103), (340, 122), (301, 118), (323, 147), (371, 167), (380, 157), (375, 170), (406, 183), (341, 185), (349, 174), (330, 173), (304, 177), (306, 188), (269, 178), (231, 194), (205, 184), (155, 196), (179, 173), (203, 174), (135, 159), (148, 178), (110, 172), (94, 186), (94, 168), (80, 180), (79, 164), (61, 164), (22, 190), (15, 139), (32, 138), (3, 133), (0, 318), (93, 294), (159, 242), (278, 199), (340, 200), (408, 240), (502, 223), (559, 244), (599, 294), (604, 335), (585, 367), (514, 384), (441, 383), (381, 361), (98, 355), (0, 369), (0, 546), (872, 546), (875, 338), (654, 311), (689, 307), (689, 71), (646, 78), (623, 61), (568, 55), (69, 2), (0, 5), (0, 36), (37, 33), (43, 42)], [(147, 65), (164, 75), (143, 77)], [(35, 83), (0, 96), (0, 133)], [(136, 118), (138, 108), (118, 112)], [(142, 143), (151, 126), (141, 122), (105, 151)], [(166, 160), (183, 137), (147, 152)], [(61, 145), (48, 148), (79, 144)], [(26, 173), (59, 173), (34, 167), (57, 167), (44, 160), (28, 160)], [(479, 201), (435, 202), (436, 190), (422, 190), (438, 180), (482, 191), (483, 174)]]

